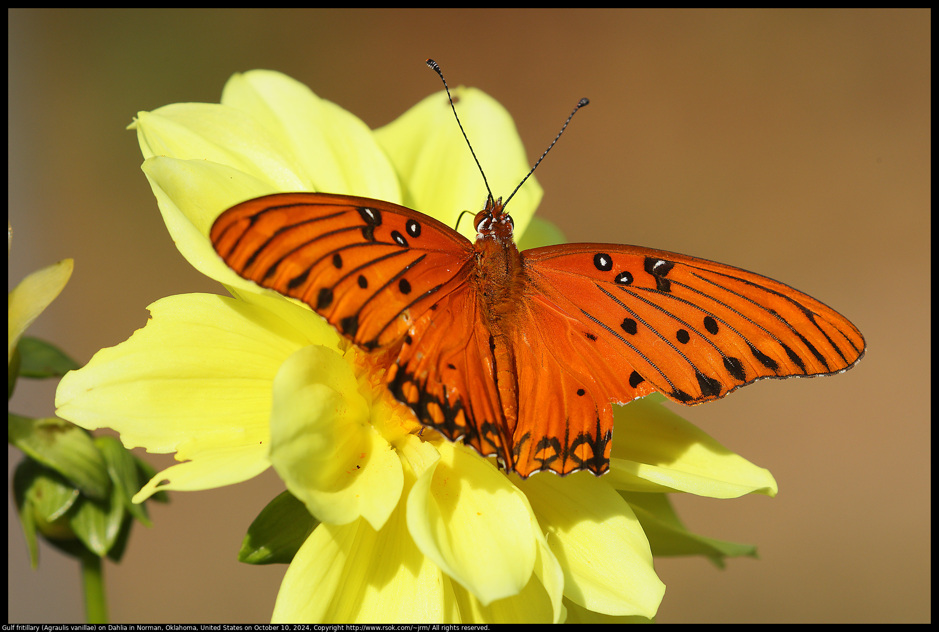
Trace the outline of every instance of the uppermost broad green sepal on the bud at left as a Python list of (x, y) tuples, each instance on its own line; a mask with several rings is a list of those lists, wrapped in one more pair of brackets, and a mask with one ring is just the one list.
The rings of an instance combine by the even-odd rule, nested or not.
[(111, 477), (91, 436), (65, 419), (28, 419), (8, 413), (8, 441), (27, 456), (61, 473), (85, 496), (104, 500)]

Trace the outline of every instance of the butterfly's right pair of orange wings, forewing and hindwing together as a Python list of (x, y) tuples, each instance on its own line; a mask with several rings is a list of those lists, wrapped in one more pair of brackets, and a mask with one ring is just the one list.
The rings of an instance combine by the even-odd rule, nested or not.
[(765, 377), (846, 371), (847, 319), (773, 279), (663, 250), (569, 244), (522, 253), (516, 471), (608, 469), (610, 402), (696, 404)]

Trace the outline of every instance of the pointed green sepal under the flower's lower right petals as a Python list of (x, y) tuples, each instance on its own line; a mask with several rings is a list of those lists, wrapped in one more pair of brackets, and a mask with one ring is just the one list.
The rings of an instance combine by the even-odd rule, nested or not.
[(639, 519), (654, 556), (703, 555), (717, 568), (724, 568), (724, 558), (758, 557), (755, 545), (706, 538), (685, 529), (665, 494), (620, 491), (620, 496)]

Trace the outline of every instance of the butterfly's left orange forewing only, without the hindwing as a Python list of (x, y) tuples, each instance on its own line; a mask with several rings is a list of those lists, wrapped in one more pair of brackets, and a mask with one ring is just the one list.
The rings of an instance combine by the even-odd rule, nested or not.
[(322, 193), (242, 202), (209, 237), (241, 277), (306, 303), (368, 350), (400, 340), (472, 255), (468, 239), (423, 213)]

